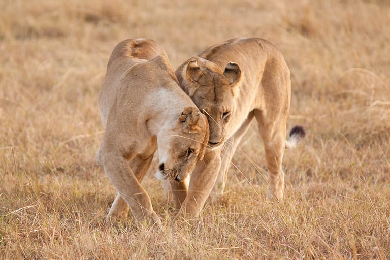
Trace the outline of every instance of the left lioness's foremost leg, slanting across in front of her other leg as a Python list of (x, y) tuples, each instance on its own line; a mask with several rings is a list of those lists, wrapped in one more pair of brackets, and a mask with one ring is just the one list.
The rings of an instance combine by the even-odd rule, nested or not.
[[(147, 221), (151, 224), (161, 225), (161, 220), (153, 211), (152, 203), (145, 189), (141, 186), (137, 177), (129, 167), (127, 160), (120, 154), (107, 152), (100, 155), (100, 164), (103, 166), (108, 178), (120, 194), (120, 197), (128, 204), (137, 221)], [(120, 202), (120, 198), (118, 198)], [(115, 204), (115, 203), (114, 203)], [(115, 212), (114, 209), (110, 212)], [(123, 206), (123, 203), (117, 205)], [(110, 214), (108, 215), (110, 218)]]

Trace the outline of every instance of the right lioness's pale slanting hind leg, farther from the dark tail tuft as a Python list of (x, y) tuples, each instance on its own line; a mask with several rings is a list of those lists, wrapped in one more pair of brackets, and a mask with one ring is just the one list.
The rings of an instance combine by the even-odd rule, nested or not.
[(248, 128), (253, 120), (254, 114), (253, 111), (248, 114), (247, 119), (241, 125), (241, 127), (234, 133), (234, 135), (229, 138), (223, 145), (221, 151), (221, 168), (218, 173), (217, 180), (215, 185), (210, 193), (210, 197), (214, 200), (219, 194), (223, 194), (225, 188), (226, 179), (228, 177), (228, 171), (230, 168), (230, 163), (232, 161), (233, 155), (239, 145), (242, 137), (248, 131)]

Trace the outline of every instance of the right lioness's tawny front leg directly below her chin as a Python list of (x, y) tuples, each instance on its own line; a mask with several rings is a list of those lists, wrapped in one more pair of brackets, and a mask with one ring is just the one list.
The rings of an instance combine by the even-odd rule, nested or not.
[(199, 216), (215, 184), (220, 166), (220, 151), (206, 150), (205, 158), (203, 161), (198, 161), (191, 174), (187, 197), (174, 221), (180, 218), (190, 220)]

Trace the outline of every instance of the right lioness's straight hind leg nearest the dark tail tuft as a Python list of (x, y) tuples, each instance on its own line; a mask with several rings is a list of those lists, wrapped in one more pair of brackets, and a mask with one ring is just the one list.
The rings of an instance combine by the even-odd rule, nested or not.
[[(261, 112), (255, 112), (259, 123), (259, 132), (264, 142), (267, 168), (269, 172), (269, 190), (267, 199), (283, 199), (284, 194), (284, 172), (282, 160), (285, 148), (286, 119), (265, 121)], [(263, 120), (262, 120), (263, 119)], [(268, 123), (265, 123), (268, 122)]]

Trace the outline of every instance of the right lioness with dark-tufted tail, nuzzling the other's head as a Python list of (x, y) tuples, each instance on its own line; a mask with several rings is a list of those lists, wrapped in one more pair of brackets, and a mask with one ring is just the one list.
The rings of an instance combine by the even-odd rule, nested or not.
[(221, 168), (212, 195), (223, 193), (230, 161), (253, 118), (263, 139), (269, 170), (268, 197), (283, 198), (285, 148), (305, 135), (296, 126), (285, 140), (290, 108), (290, 71), (280, 51), (259, 38), (236, 38), (192, 57), (175, 72), (210, 125), (209, 146), (221, 149)]

